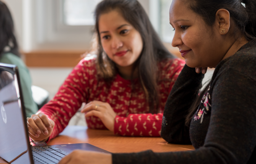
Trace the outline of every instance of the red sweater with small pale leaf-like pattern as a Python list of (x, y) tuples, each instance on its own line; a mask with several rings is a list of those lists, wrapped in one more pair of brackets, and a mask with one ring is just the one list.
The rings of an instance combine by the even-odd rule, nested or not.
[[(97, 78), (95, 59), (82, 59), (64, 81), (53, 100), (39, 111), (55, 122), (53, 133), (56, 137), (67, 126), (83, 102), (107, 102), (113, 108), (115, 117), (114, 133), (123, 136), (159, 137), (162, 124), (162, 112), (174, 82), (185, 62), (181, 59), (165, 59), (159, 62), (160, 113), (150, 114), (143, 89), (136, 80), (131, 92), (131, 81), (117, 74), (109, 85)], [(86, 118), (91, 129), (106, 129), (102, 121), (95, 116)]]

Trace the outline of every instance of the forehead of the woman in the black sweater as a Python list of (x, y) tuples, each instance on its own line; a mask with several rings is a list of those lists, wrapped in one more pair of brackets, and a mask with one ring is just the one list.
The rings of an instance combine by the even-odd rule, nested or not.
[(197, 16), (197, 14), (188, 8), (187, 3), (188, 1), (185, 0), (172, 0), (169, 10), (170, 23), (180, 19), (191, 20)]

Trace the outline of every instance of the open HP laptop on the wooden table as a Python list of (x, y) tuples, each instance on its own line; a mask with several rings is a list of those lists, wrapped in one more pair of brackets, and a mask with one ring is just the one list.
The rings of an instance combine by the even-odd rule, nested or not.
[(31, 146), (18, 68), (0, 63), (0, 157), (11, 164), (56, 164), (75, 149), (106, 150), (88, 143)]

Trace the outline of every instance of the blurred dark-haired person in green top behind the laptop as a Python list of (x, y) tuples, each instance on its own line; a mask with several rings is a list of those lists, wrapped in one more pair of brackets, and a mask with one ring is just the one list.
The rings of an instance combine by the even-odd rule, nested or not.
[(38, 111), (38, 106), (32, 97), (30, 72), (21, 59), (14, 31), (11, 13), (7, 5), (0, 1), (0, 63), (18, 66), (26, 116), (30, 117)]

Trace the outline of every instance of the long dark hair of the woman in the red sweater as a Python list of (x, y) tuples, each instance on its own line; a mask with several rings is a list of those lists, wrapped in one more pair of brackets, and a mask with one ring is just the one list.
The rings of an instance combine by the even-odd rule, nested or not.
[(115, 63), (103, 51), (98, 30), (100, 15), (112, 10), (119, 11), (123, 18), (135, 27), (141, 35), (143, 50), (135, 61), (133, 72), (135, 69), (138, 69), (139, 81), (147, 97), (150, 113), (156, 113), (159, 107), (157, 63), (162, 59), (174, 58), (174, 56), (162, 44), (146, 12), (137, 0), (103, 0), (97, 5), (95, 10), (95, 29), (98, 42), (96, 65), (98, 74), (103, 79), (111, 81), (112, 77), (117, 73)]

